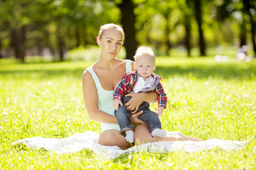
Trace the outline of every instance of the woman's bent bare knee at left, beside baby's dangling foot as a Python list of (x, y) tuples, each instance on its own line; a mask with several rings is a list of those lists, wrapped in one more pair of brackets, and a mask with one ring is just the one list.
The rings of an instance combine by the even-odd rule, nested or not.
[(125, 136), (116, 129), (102, 131), (98, 138), (98, 143), (105, 146), (118, 146), (122, 150), (126, 150), (131, 147), (125, 139)]

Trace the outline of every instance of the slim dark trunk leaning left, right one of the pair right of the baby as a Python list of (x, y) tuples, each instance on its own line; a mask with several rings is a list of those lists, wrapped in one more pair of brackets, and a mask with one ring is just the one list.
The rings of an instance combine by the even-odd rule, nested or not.
[(201, 11), (201, 1), (194, 0), (195, 3), (195, 16), (197, 21), (197, 26), (199, 29), (199, 46), (200, 46), (200, 56), (205, 56), (205, 41), (202, 29), (202, 11)]

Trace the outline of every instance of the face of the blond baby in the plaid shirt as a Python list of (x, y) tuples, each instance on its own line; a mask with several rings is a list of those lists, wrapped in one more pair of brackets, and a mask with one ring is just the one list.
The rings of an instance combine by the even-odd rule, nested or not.
[(135, 59), (135, 70), (137, 70), (138, 75), (141, 76), (144, 80), (147, 80), (147, 78), (155, 71), (155, 61), (154, 58), (143, 55), (143, 56), (137, 56)]

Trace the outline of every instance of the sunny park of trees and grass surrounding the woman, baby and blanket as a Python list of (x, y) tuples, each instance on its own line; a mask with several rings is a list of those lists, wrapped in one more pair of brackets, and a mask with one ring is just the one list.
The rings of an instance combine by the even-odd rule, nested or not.
[[(255, 169), (255, 1), (0, 1), (0, 169)], [(96, 131), (81, 76), (100, 54), (98, 28), (123, 25), (119, 58), (156, 54), (168, 108), (163, 129), (240, 150), (141, 151), (107, 160), (13, 146), (31, 137)], [(247, 45), (249, 59), (236, 58)], [(151, 104), (151, 109), (157, 104)]]

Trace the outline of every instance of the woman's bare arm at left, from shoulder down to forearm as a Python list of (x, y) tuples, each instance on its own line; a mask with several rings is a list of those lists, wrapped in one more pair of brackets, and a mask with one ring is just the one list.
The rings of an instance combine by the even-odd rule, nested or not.
[(82, 94), (89, 117), (93, 121), (117, 124), (117, 118), (98, 108), (98, 94), (92, 75), (89, 71), (82, 74)]

